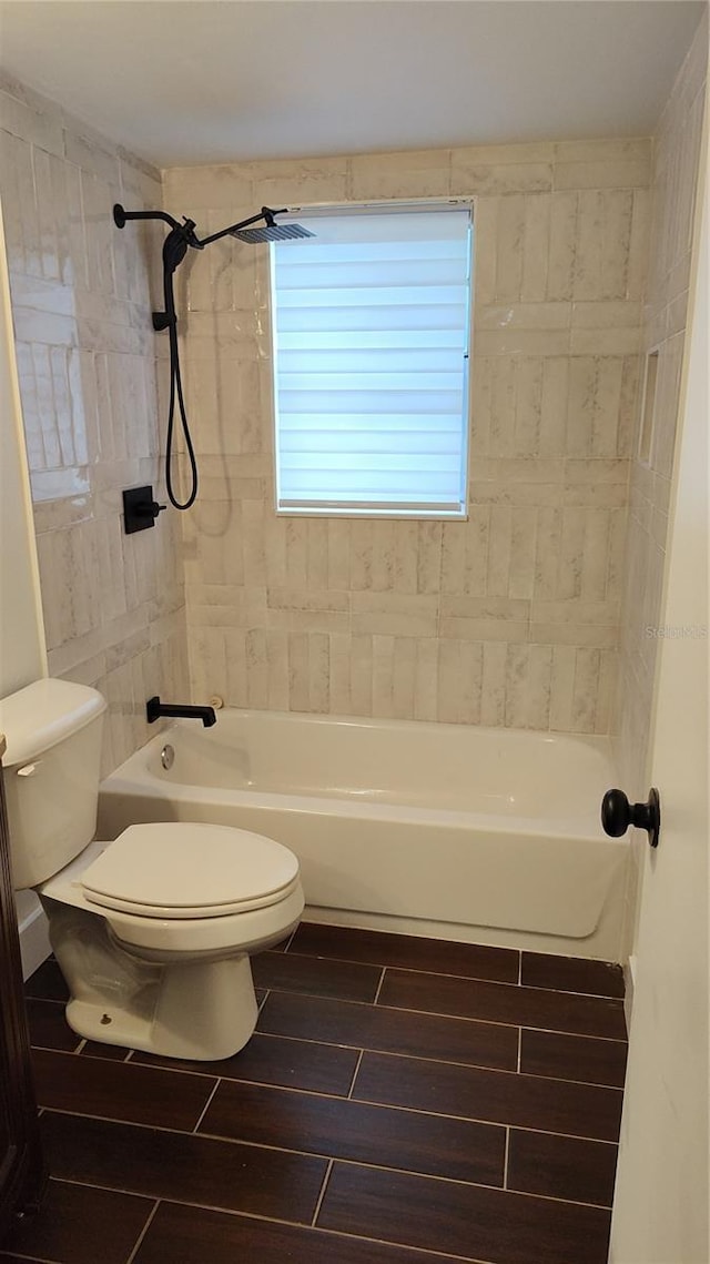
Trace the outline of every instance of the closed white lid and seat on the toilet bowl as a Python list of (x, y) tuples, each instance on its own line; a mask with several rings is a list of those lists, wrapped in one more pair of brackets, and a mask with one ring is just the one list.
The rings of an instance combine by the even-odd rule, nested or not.
[(230, 825), (130, 825), (81, 875), (92, 904), (145, 918), (214, 918), (284, 899), (298, 881), (287, 847)]

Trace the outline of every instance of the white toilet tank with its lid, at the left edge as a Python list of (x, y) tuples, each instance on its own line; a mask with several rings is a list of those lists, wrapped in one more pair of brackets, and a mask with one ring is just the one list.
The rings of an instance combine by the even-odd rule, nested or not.
[(16, 891), (52, 877), (93, 838), (105, 710), (96, 689), (68, 680), (35, 680), (0, 702)]

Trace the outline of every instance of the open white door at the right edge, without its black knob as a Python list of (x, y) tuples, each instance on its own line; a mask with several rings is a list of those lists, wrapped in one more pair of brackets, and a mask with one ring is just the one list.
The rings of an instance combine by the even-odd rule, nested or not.
[[(704, 145), (707, 157), (707, 133)], [(613, 1264), (707, 1264), (707, 186), (691, 302), (682, 428), (652, 737), (661, 841), (648, 849)]]

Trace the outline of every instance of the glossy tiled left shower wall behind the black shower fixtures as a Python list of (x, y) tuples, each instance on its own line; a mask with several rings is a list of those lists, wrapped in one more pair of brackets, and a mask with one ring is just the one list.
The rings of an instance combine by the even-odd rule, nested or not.
[(177, 514), (134, 536), (120, 517), (121, 488), (163, 494), (163, 233), (120, 233), (111, 207), (159, 206), (159, 173), (8, 78), (0, 168), (49, 672), (107, 698), (110, 771), (149, 736), (145, 699), (188, 691)]

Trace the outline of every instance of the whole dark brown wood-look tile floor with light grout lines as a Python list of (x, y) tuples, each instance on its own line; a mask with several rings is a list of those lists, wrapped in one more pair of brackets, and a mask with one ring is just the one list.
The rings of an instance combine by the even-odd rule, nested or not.
[(618, 967), (302, 924), (224, 1062), (80, 1040), (27, 985), (52, 1173), (0, 1264), (605, 1264)]

